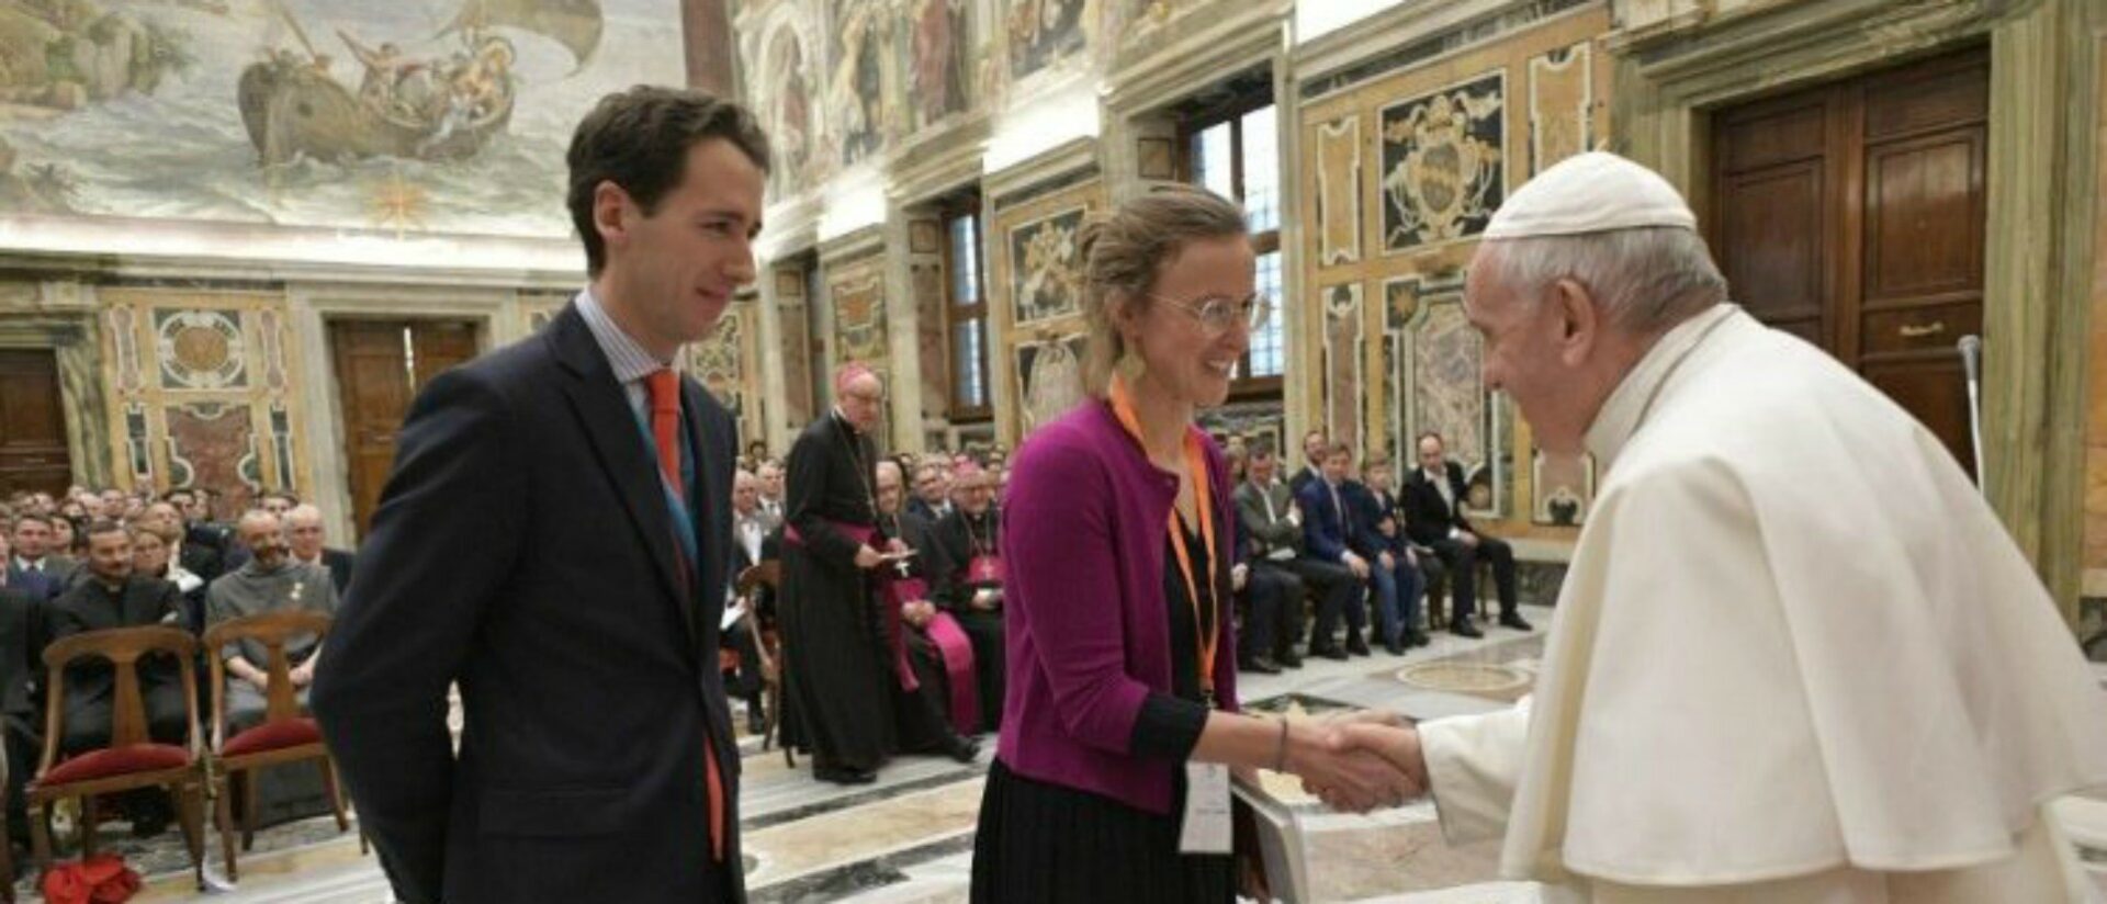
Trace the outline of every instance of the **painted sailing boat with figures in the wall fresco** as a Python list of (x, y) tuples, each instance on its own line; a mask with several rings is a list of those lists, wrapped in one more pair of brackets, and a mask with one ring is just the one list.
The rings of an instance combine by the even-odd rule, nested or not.
[[(354, 91), (327, 70), (308, 32), (280, 4), (287, 25), (308, 53), (274, 51), (240, 78), (242, 124), (265, 164), (299, 154), (459, 160), (476, 156), (512, 122), (512, 63), (518, 51), (501, 27), (554, 38), (582, 70), (600, 46), (598, 0), (470, 0), (442, 36), (461, 51), (447, 59), (409, 59), (392, 42), (367, 46), (337, 32), (367, 67)], [(324, 65), (314, 65), (324, 61)]]

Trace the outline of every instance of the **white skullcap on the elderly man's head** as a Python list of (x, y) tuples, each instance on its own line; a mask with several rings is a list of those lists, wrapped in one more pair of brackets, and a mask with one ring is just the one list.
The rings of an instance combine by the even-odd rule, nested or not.
[(1507, 196), (1485, 238), (1580, 236), (1671, 225), (1696, 232), (1698, 217), (1660, 173), (1610, 152), (1587, 152), (1536, 173)]

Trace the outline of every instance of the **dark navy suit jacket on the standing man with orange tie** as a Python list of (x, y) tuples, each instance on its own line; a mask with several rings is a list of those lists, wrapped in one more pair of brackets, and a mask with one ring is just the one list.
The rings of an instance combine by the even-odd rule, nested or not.
[[(746, 900), (716, 670), (737, 436), (693, 379), (681, 407), (689, 579), (649, 438), (577, 308), (411, 407), (314, 685), (405, 902)], [(704, 756), (727, 792), (725, 864)]]

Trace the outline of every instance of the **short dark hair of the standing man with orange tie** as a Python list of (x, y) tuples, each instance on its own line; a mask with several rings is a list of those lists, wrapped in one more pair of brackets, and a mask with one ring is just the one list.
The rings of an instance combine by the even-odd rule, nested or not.
[(704, 139), (725, 139), (769, 169), (769, 137), (754, 114), (740, 103), (689, 89), (638, 84), (600, 97), (600, 103), (571, 135), (571, 225), (586, 242), (586, 274), (607, 266), (607, 242), (592, 225), (592, 194), (603, 181), (622, 185), (636, 207), (651, 215), (659, 200), (687, 175), (687, 152)]

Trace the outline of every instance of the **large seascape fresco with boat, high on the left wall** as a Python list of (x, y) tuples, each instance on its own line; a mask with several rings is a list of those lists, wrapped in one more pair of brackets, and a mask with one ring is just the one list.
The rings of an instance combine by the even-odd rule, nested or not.
[(0, 215), (569, 238), (577, 120), (683, 0), (0, 0)]

